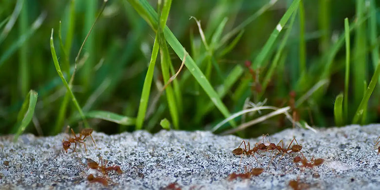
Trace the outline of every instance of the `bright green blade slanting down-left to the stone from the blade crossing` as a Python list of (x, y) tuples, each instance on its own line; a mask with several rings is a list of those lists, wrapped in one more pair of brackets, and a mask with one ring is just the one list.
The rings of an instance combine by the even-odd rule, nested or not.
[(158, 35), (154, 39), (151, 61), (149, 63), (148, 72), (145, 75), (143, 90), (140, 98), (140, 105), (138, 106), (138, 113), (136, 118), (136, 130), (141, 130), (144, 123), (145, 114), (147, 112), (149, 95), (151, 94), (152, 79), (154, 73), (154, 66), (156, 64), (157, 54), (158, 54), (159, 44)]

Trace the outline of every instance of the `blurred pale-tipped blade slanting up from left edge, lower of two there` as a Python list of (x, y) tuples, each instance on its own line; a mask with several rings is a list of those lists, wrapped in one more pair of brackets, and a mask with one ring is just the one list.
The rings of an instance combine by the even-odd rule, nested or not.
[(42, 22), (45, 20), (46, 15), (46, 12), (42, 12), (38, 16), (38, 18), (33, 22), (29, 30), (25, 34), (20, 36), (18, 40), (13, 42), (9, 48), (7, 48), (7, 50), (0, 57), (0, 67), (9, 57), (11, 57), (19, 49), (19, 47), (21, 47), (21, 45), (27, 39), (29, 39), (36, 32), (36, 30), (41, 26)]

